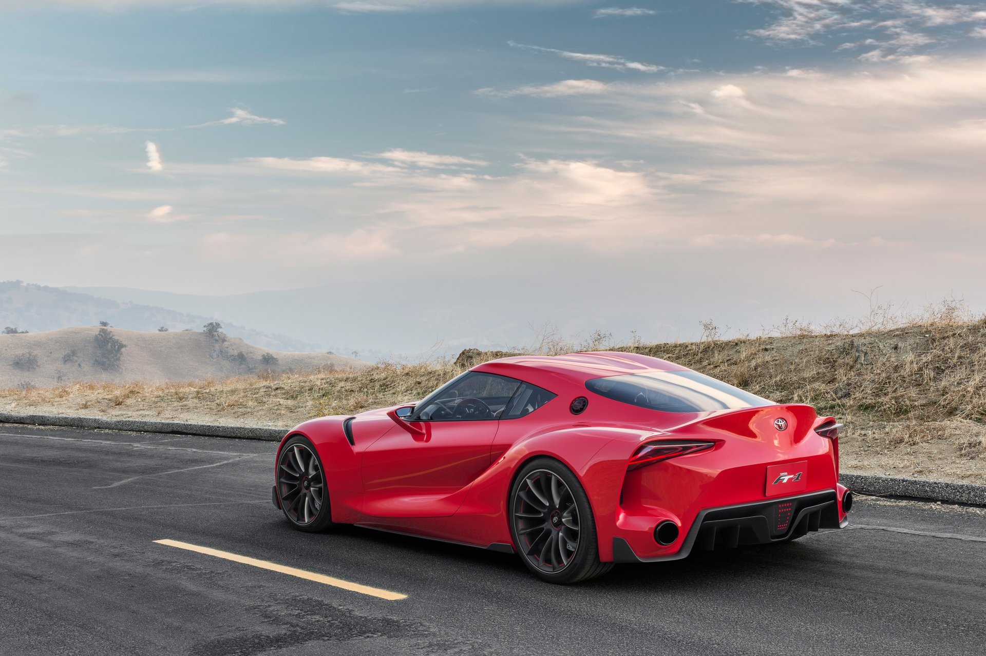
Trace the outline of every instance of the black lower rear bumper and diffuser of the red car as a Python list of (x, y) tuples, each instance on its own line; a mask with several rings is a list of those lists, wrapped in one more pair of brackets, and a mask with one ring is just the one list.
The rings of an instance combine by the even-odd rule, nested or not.
[(638, 557), (621, 537), (613, 538), (614, 562), (658, 562), (685, 558), (693, 549), (766, 545), (818, 529), (844, 528), (835, 490), (701, 510), (675, 554)]

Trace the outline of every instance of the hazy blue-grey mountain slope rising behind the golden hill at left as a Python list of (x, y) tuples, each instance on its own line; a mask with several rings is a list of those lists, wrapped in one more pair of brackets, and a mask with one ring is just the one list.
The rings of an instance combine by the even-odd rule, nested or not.
[[(56, 287), (31, 285), (21, 281), (0, 283), (0, 329), (4, 326), (40, 332), (72, 326), (96, 326), (107, 321), (115, 328), (157, 331), (201, 330), (209, 314), (194, 314), (154, 305), (141, 305), (95, 295), (67, 292)], [(317, 344), (274, 333), (260, 332), (234, 323), (223, 324), (223, 332), (264, 349), (289, 353), (322, 351)]]

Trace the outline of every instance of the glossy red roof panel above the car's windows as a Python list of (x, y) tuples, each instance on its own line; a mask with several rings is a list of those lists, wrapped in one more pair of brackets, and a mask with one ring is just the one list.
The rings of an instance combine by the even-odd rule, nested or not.
[(646, 371), (688, 371), (686, 366), (659, 358), (641, 356), (635, 353), (598, 351), (573, 353), (565, 356), (516, 356), (483, 362), (473, 367), (475, 371), (487, 371), (501, 375), (529, 378), (537, 384), (537, 373), (563, 377), (573, 382), (583, 383), (590, 378), (616, 376), (626, 373)]

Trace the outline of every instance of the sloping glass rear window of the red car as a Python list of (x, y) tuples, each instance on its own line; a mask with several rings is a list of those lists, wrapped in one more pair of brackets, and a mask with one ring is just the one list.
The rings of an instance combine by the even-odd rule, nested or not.
[(774, 405), (698, 371), (651, 371), (593, 378), (586, 381), (586, 387), (607, 399), (663, 413), (707, 413)]

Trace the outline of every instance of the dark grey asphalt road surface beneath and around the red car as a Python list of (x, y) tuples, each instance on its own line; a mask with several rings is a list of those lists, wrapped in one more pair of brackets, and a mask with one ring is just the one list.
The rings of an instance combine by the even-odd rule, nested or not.
[[(531, 577), (514, 556), (355, 527), (297, 532), (270, 503), (274, 449), (0, 426), (0, 654), (986, 649), (982, 508), (858, 497), (853, 530), (619, 565), (560, 587)], [(386, 601), (161, 539), (407, 598)]]

